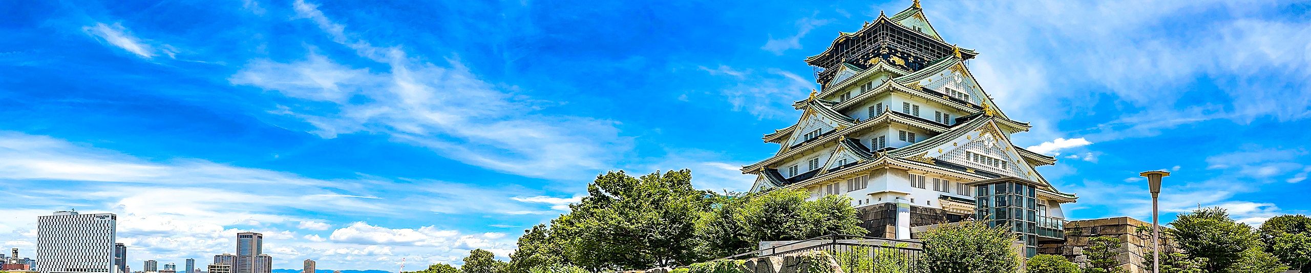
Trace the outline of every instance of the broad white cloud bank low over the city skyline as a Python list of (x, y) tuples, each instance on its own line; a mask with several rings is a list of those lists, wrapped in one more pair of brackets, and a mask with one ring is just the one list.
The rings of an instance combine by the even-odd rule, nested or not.
[[(0, 242), (7, 242), (5, 248), (30, 248), (28, 238), (35, 236), (38, 215), (73, 207), (117, 214), (118, 240), (132, 249), (132, 262), (138, 264), (147, 259), (207, 259), (232, 252), (233, 236), (241, 231), (265, 234), (266, 248), (279, 251), (277, 266), (288, 266), (283, 262), (298, 259), (324, 260), (323, 266), (332, 264), (328, 261), (372, 266), (376, 259), (391, 259), (384, 262), (391, 264), (401, 257), (458, 262), (471, 247), (505, 253), (513, 249), (514, 238), (429, 226), (412, 230), (422, 240), (405, 242), (406, 228), (355, 223), (338, 228), (333, 235), (345, 242), (334, 242), (333, 236), (291, 231), (328, 230), (326, 220), (290, 215), (316, 211), (324, 217), (404, 219), (421, 215), (414, 211), (422, 210), (498, 214), (535, 209), (513, 201), (510, 194), (538, 193), (514, 184), (499, 184), (493, 190), (430, 180), (328, 181), (197, 159), (149, 161), (84, 143), (8, 131), (0, 131), (0, 181), (26, 189), (7, 192), (7, 201), (21, 206), (7, 209), (5, 215), (12, 220), (0, 222)], [(375, 197), (384, 196), (378, 190), (385, 190), (387, 198)], [(351, 236), (351, 230), (359, 232)], [(387, 247), (364, 245), (371, 240), (362, 236), (382, 240), (387, 236), (378, 234), (387, 232), (392, 234)]]

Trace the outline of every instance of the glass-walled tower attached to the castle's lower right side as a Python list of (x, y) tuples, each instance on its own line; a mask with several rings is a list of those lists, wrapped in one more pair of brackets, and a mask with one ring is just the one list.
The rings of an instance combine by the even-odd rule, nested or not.
[(1025, 255), (1038, 253), (1037, 189), (1021, 182), (995, 182), (974, 188), (977, 219), (990, 227), (1009, 227), (1024, 242)]

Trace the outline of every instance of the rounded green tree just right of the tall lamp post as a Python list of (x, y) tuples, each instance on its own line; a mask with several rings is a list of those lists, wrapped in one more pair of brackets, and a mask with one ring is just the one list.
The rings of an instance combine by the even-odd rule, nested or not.
[(1252, 227), (1234, 222), (1221, 207), (1200, 207), (1180, 214), (1165, 230), (1179, 247), (1192, 257), (1207, 260), (1206, 272), (1224, 272), (1243, 259), (1243, 252), (1264, 248)]

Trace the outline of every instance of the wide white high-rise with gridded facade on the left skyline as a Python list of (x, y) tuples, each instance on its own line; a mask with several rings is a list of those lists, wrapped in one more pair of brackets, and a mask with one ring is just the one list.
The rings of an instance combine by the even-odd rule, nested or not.
[(55, 211), (37, 217), (37, 260), (41, 273), (114, 272), (114, 214)]

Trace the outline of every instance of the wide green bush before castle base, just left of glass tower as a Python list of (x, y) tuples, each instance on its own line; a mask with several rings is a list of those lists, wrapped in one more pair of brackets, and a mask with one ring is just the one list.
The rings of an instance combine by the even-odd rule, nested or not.
[(1015, 272), (1020, 266), (1019, 253), (1011, 248), (1016, 236), (1006, 226), (966, 220), (941, 224), (922, 238), (924, 253), (916, 265), (931, 273)]

